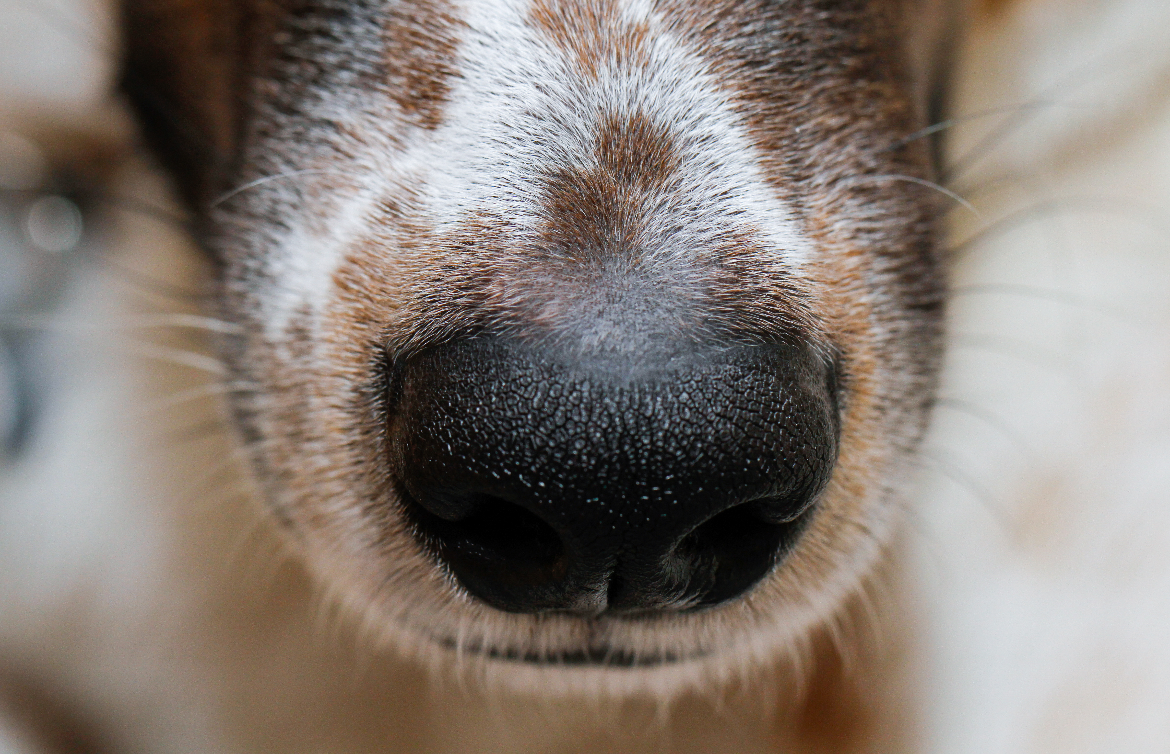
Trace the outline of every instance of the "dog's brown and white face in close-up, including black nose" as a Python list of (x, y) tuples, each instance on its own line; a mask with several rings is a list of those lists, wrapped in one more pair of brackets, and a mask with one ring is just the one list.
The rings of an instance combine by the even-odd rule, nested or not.
[(323, 587), (567, 676), (775, 653), (856, 589), (937, 361), (925, 13), (129, 0)]

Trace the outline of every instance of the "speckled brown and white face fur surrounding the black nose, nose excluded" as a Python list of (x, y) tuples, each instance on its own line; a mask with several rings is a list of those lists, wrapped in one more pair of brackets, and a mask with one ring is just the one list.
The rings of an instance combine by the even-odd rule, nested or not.
[[(220, 311), (243, 327), (225, 353), (262, 386), (236, 401), (260, 483), (380, 641), (708, 657), (605, 682), (658, 687), (769, 660), (859, 589), (940, 352), (942, 203), (914, 182), (925, 143), (899, 145), (925, 123), (911, 41), (934, 16), (895, 1), (335, 0), (208, 4), (191, 23), (149, 5), (125, 6), (126, 81), (200, 219)], [(147, 16), (181, 44), (138, 42)], [(176, 78), (212, 64), (234, 94)], [(207, 124), (214, 159), (190, 157), (158, 92)], [(703, 614), (586, 621), (469, 600), (395, 510), (387, 360), (483, 330), (636, 350), (632, 305), (681, 337), (796, 331), (839, 359), (841, 456), (820, 512), (765, 583)], [(508, 670), (526, 673), (606, 676)]]

